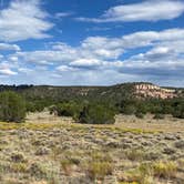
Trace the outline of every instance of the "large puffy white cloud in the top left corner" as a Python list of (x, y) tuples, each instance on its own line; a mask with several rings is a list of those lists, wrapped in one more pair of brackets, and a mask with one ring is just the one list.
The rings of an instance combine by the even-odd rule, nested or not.
[(0, 40), (20, 41), (50, 37), (45, 32), (53, 24), (47, 20), (47, 12), (40, 8), (40, 0), (14, 0), (0, 10)]

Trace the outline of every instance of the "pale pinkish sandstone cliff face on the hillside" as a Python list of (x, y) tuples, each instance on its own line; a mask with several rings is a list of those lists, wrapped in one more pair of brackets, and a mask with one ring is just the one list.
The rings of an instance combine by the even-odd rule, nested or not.
[(135, 95), (141, 98), (173, 99), (176, 96), (175, 90), (160, 88), (154, 84), (135, 84)]

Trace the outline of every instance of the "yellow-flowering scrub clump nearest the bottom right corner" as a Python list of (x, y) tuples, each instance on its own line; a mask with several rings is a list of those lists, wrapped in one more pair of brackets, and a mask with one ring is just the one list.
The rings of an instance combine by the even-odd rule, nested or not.
[(153, 172), (154, 175), (157, 177), (170, 178), (174, 177), (177, 171), (177, 165), (175, 162), (167, 161), (167, 162), (156, 162), (153, 164)]

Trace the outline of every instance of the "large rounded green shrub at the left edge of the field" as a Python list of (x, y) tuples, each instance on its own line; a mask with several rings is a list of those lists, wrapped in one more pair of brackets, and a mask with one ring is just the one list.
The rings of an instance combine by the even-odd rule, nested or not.
[(0, 93), (0, 120), (19, 123), (22, 122), (24, 117), (24, 100), (14, 92)]

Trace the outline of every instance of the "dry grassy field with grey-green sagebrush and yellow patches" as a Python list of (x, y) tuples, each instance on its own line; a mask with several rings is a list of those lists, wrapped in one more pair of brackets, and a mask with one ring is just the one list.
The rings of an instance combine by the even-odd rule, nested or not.
[(117, 115), (75, 124), (48, 112), (0, 123), (2, 184), (183, 184), (184, 121)]

